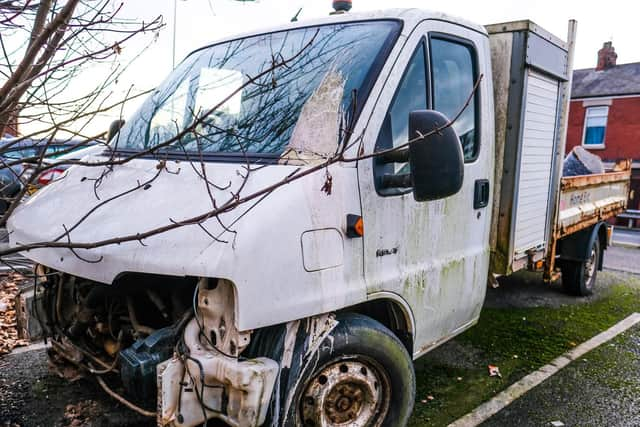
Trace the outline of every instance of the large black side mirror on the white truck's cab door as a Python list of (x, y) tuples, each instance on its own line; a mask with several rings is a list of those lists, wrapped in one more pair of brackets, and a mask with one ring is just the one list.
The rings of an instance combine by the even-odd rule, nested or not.
[[(437, 111), (413, 111), (409, 114), (409, 138), (426, 135), (448, 122), (449, 119)], [(413, 197), (418, 202), (444, 199), (462, 188), (462, 145), (451, 126), (412, 142), (409, 145), (409, 163)]]

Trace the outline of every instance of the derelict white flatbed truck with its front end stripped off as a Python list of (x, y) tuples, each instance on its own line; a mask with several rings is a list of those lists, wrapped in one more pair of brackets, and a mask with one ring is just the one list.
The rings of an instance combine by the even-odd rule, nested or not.
[[(137, 235), (286, 185), (139, 242), (24, 252), (52, 361), (159, 425), (405, 425), (412, 359), (474, 325), (496, 275), (593, 289), (630, 164), (561, 176), (569, 34), (395, 9), (192, 53), (112, 135), (123, 158), (157, 150), (68, 169), (11, 244)], [(287, 180), (346, 140), (357, 161)]]

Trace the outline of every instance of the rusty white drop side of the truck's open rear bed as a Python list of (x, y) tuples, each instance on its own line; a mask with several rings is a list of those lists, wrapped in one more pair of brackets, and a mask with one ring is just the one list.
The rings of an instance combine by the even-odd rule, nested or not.
[(618, 163), (612, 172), (564, 177), (560, 183), (560, 212), (555, 238), (605, 221), (627, 207), (631, 162)]

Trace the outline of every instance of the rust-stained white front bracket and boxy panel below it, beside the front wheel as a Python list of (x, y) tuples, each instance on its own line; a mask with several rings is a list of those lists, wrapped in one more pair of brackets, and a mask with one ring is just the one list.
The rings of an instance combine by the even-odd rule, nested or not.
[(158, 366), (158, 424), (190, 427), (218, 418), (230, 426), (262, 425), (278, 364), (240, 358), (251, 334), (235, 327), (231, 283), (201, 279), (197, 301), (178, 351)]

